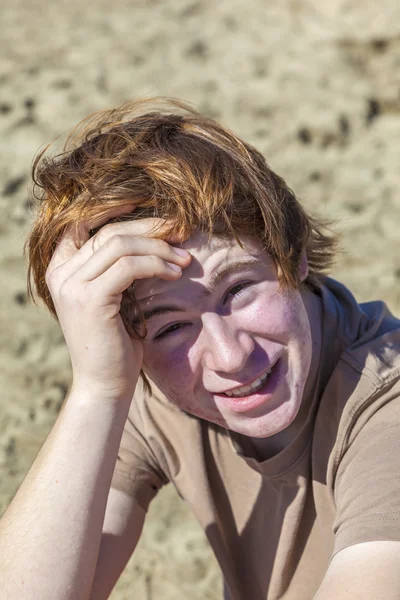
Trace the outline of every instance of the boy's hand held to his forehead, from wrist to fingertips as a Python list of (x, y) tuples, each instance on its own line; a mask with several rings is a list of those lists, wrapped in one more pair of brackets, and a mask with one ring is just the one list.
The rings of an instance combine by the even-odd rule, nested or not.
[[(107, 220), (132, 209), (124, 207)], [(60, 240), (46, 283), (71, 357), (74, 389), (132, 398), (143, 351), (140, 340), (130, 337), (124, 327), (122, 293), (136, 279), (179, 279), (191, 258), (151, 237), (161, 223), (160, 219), (109, 223), (94, 237), (89, 234), (91, 225), (83, 223), (79, 235), (70, 228)]]

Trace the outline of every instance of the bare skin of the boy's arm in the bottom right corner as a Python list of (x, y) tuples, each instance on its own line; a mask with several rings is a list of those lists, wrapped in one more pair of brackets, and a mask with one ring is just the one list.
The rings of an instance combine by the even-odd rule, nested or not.
[(400, 542), (364, 542), (332, 559), (314, 600), (398, 600)]

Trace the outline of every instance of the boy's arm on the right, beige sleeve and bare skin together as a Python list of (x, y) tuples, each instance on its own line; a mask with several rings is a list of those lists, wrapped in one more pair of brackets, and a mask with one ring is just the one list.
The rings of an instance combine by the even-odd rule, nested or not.
[(400, 598), (399, 382), (366, 404), (338, 463), (334, 555), (314, 600)]

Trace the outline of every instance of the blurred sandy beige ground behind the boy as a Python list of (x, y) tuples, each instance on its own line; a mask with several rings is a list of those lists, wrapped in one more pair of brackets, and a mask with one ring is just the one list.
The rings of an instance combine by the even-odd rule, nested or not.
[[(221, 120), (310, 211), (338, 220), (333, 275), (400, 315), (397, 0), (1, 0), (0, 12), (0, 513), (70, 380), (56, 322), (27, 302), (31, 164), (95, 110), (168, 95)], [(168, 486), (113, 600), (221, 590), (202, 531)]]

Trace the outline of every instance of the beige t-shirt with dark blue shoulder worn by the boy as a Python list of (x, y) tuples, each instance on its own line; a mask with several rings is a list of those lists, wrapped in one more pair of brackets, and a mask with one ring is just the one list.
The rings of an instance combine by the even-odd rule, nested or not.
[(400, 321), (321, 289), (323, 349), (309, 419), (263, 462), (250, 440), (138, 389), (112, 486), (147, 509), (171, 481), (203, 526), (230, 600), (310, 600), (332, 556), (400, 540)]

